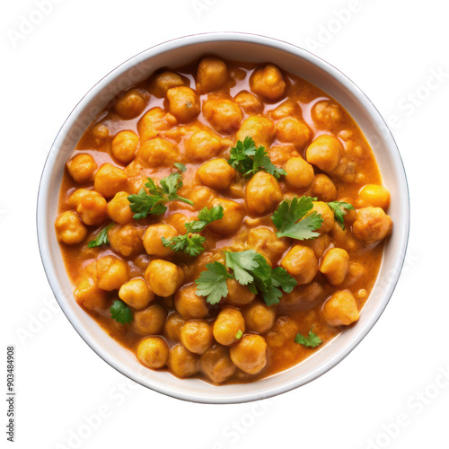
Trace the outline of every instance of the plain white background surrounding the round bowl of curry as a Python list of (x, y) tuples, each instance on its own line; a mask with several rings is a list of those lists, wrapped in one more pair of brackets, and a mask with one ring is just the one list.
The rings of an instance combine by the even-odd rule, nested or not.
[[(43, 0), (51, 11), (26, 28), (37, 3), (3, 2), (0, 19), (1, 358), (15, 345), (16, 447), (449, 447), (447, 4)], [(381, 320), (328, 374), (256, 405), (176, 401), (117, 373), (59, 310), (36, 240), (40, 172), (77, 101), (137, 52), (204, 31), (268, 35), (337, 66), (392, 123), (409, 178), (408, 258)]]

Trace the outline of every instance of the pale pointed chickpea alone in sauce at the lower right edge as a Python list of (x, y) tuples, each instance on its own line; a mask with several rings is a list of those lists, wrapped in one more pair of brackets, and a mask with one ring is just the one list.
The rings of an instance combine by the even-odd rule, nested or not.
[(335, 292), (322, 306), (322, 316), (330, 326), (348, 326), (360, 316), (356, 298), (348, 290)]

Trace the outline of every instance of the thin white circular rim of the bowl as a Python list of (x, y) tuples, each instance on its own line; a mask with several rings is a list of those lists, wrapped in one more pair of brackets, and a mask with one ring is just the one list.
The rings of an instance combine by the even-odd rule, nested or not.
[[(374, 119), (375, 125), (378, 128), (383, 129), (383, 142), (385, 146), (388, 148), (388, 152), (392, 155), (392, 158), (395, 160), (395, 164), (397, 165), (398, 170), (403, 175), (403, 182), (401, 182), (401, 187), (405, 189), (405, 198), (407, 201), (401, 203), (401, 216), (403, 219), (402, 223), (402, 233), (401, 233), (401, 242), (400, 242), (400, 251), (395, 255), (395, 260), (393, 264), (393, 276), (389, 279), (388, 286), (385, 288), (383, 292), (383, 297), (380, 300), (377, 309), (370, 316), (369, 320), (365, 322), (365, 326), (358, 331), (355, 335), (354, 339), (351, 339), (347, 346), (340, 350), (336, 355), (330, 357), (325, 363), (322, 363), (317, 369), (312, 370), (298, 378), (294, 381), (282, 383), (280, 386), (271, 388), (267, 391), (262, 390), (260, 392), (247, 392), (243, 394), (229, 394), (226, 395), (210, 395), (210, 396), (198, 396), (198, 394), (189, 392), (188, 389), (185, 389), (182, 392), (172, 392), (169, 388), (165, 388), (160, 384), (152, 384), (150, 382), (143, 382), (141, 378), (139, 378), (136, 373), (132, 370), (129, 370), (126, 366), (123, 366), (119, 363), (119, 361), (113, 357), (110, 357), (100, 345), (89, 335), (84, 326), (78, 321), (75, 317), (74, 313), (70, 310), (68, 305), (62, 300), (62, 296), (64, 293), (58, 286), (57, 275), (55, 269), (51, 263), (51, 260), (46, 253), (48, 251), (48, 235), (46, 233), (46, 228), (41, 225), (42, 223), (46, 223), (45, 213), (48, 208), (47, 201), (47, 193), (48, 193), (48, 182), (51, 178), (51, 172), (53, 171), (56, 158), (50, 157), (57, 153), (57, 142), (61, 136), (65, 136), (66, 132), (70, 130), (70, 120), (76, 115), (76, 112), (82, 109), (82, 106), (94, 96), (96, 92), (101, 92), (101, 89), (108, 85), (113, 79), (117, 76), (123, 74), (128, 70), (128, 68), (133, 66), (134, 62), (143, 62), (151, 57), (159, 55), (163, 52), (175, 49), (187, 47), (189, 45), (194, 45), (202, 42), (220, 42), (220, 41), (235, 41), (235, 42), (246, 42), (251, 44), (259, 44), (263, 46), (268, 46), (271, 48), (277, 48), (287, 53), (294, 55), (295, 57), (302, 57), (306, 59), (308, 62), (312, 63), (314, 66), (318, 66), (334, 78), (340, 85), (348, 89), (348, 92), (353, 94), (358, 103), (368, 112), (369, 116)], [(139, 61), (139, 58), (145, 56)], [(320, 87), (320, 86), (318, 86)], [(73, 125), (73, 124), (72, 124)], [(92, 350), (100, 356), (106, 363), (116, 369), (120, 374), (126, 375), (128, 378), (132, 379), (136, 383), (139, 383), (146, 388), (149, 388), (155, 392), (161, 392), (169, 397), (180, 399), (182, 401), (192, 401), (198, 403), (207, 403), (207, 404), (229, 404), (229, 403), (242, 403), (249, 401), (259, 401), (262, 399), (267, 399), (273, 396), (277, 396), (278, 394), (282, 394), (285, 392), (289, 392), (298, 388), (306, 383), (312, 382), (313, 380), (320, 377), (322, 374), (328, 372), (330, 368), (338, 365), (345, 357), (348, 356), (350, 352), (352, 352), (355, 348), (357, 348), (358, 344), (365, 338), (367, 333), (373, 328), (376, 321), (379, 320), (382, 315), (386, 305), (390, 302), (392, 297), (392, 293), (397, 286), (399, 277), (401, 276), (401, 269), (403, 267), (403, 263), (405, 260), (405, 254), (407, 251), (407, 246), (409, 242), (409, 186), (407, 175), (404, 169), (404, 164), (401, 159), (401, 154), (399, 152), (398, 146), (392, 136), (392, 132), (385, 120), (383, 119), (380, 112), (375, 108), (372, 101), (365, 95), (365, 93), (355, 84), (352, 80), (348, 78), (347, 75), (344, 75), (339, 71), (335, 66), (330, 65), (330, 63), (324, 61), (321, 57), (318, 57), (311, 53), (310, 51), (295, 46), (289, 42), (284, 40), (277, 40), (275, 38), (270, 38), (260, 34), (252, 34), (238, 31), (219, 31), (219, 32), (205, 32), (205, 33), (197, 33), (190, 34), (187, 36), (183, 36), (180, 38), (166, 40), (162, 43), (154, 45), (153, 47), (146, 48), (145, 50), (137, 53), (135, 56), (128, 58), (126, 61), (121, 63), (119, 66), (112, 69), (107, 75), (103, 76), (96, 84), (92, 86), (92, 88), (86, 92), (83, 98), (78, 101), (75, 105), (75, 108), (70, 112), (64, 121), (63, 125), (57, 132), (57, 136), (55, 137), (54, 142), (52, 143), (50, 150), (48, 151), (48, 156), (46, 158), (42, 174), (40, 177), (40, 184), (38, 190), (37, 197), (37, 209), (36, 209), (36, 226), (37, 226), (37, 237), (38, 244), (40, 250), (40, 259), (43, 264), (43, 268), (45, 274), (48, 278), (48, 283), (53, 291), (57, 299), (57, 303), (63, 310), (66, 315), (67, 320), (72, 324), (75, 328), (76, 332), (80, 335), (84, 342), (92, 348)], [(384, 256), (383, 256), (384, 257)], [(180, 379), (182, 381), (182, 379)], [(220, 388), (219, 386), (216, 388)], [(225, 397), (224, 397), (225, 396)]]

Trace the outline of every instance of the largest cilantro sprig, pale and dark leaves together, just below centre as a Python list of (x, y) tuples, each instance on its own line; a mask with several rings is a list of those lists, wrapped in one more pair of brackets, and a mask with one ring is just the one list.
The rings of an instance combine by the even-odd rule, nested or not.
[[(232, 270), (232, 274), (228, 269)], [(278, 304), (282, 292), (290, 293), (297, 284), (286, 269), (271, 269), (267, 260), (254, 250), (225, 251), (225, 264), (207, 264), (206, 271), (195, 281), (197, 295), (207, 296), (209, 304), (217, 304), (228, 294), (226, 279), (229, 278), (234, 278), (242, 286), (248, 286), (255, 295), (261, 295), (267, 305)]]

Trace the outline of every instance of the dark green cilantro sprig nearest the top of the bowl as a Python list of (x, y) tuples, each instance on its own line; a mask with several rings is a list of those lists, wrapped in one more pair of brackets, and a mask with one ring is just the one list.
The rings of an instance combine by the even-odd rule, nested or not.
[(250, 136), (246, 136), (245, 140), (238, 140), (237, 144), (231, 148), (231, 157), (228, 163), (237, 171), (243, 173), (244, 176), (250, 176), (264, 170), (269, 172), (276, 179), (286, 175), (286, 171), (278, 169), (276, 165), (271, 163), (269, 154), (263, 146), (257, 147), (254, 140)]

